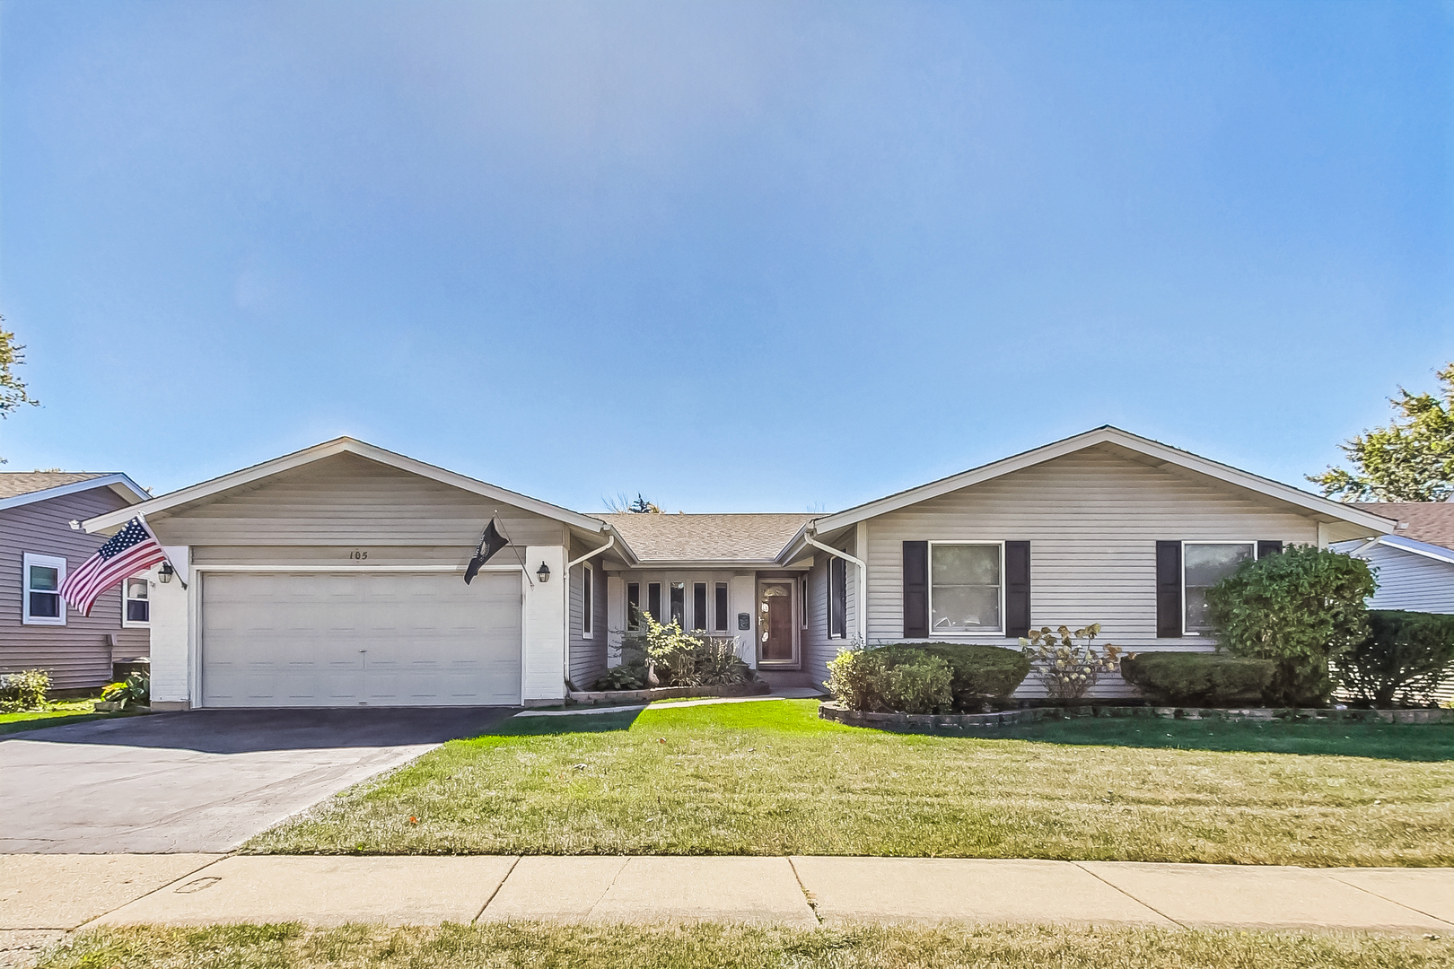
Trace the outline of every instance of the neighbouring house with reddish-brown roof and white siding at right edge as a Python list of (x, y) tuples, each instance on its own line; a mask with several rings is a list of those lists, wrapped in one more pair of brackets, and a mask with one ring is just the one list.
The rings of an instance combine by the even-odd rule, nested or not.
[(1394, 519), (1393, 532), (1336, 548), (1378, 569), (1371, 609), (1454, 613), (1454, 503), (1403, 501), (1358, 504)]

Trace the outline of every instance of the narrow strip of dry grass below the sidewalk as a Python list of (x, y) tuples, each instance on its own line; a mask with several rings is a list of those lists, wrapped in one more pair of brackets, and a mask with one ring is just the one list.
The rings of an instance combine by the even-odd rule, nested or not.
[(298, 925), (119, 928), (81, 934), (42, 969), (1306, 969), (1444, 968), (1454, 943), (1377, 936), (1050, 927)]

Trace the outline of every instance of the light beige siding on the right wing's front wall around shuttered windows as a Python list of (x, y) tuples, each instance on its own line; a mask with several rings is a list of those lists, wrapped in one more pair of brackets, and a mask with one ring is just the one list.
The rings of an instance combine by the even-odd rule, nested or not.
[[(903, 638), (903, 542), (1012, 539), (1031, 542), (1035, 626), (1099, 622), (1101, 642), (1204, 651), (1211, 639), (1156, 636), (1156, 540), (1313, 543), (1317, 524), (1250, 491), (1086, 449), (871, 520), (869, 642)], [(1018, 646), (1006, 638), (963, 641)], [(1096, 694), (1125, 690), (1112, 677)], [(1037, 692), (1027, 680), (1021, 694)]]

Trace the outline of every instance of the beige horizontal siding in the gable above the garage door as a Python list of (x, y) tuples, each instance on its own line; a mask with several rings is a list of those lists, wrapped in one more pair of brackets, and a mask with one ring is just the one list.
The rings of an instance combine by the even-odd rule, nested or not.
[(336, 455), (148, 517), (167, 545), (474, 546), (496, 511), (512, 543), (560, 545), (561, 524), (358, 455)]

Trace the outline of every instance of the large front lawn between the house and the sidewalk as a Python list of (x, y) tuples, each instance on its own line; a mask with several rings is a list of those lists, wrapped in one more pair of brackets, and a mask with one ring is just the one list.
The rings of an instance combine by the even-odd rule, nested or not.
[(816, 710), (518, 718), (244, 850), (1454, 864), (1450, 726), (1085, 719), (974, 739)]

